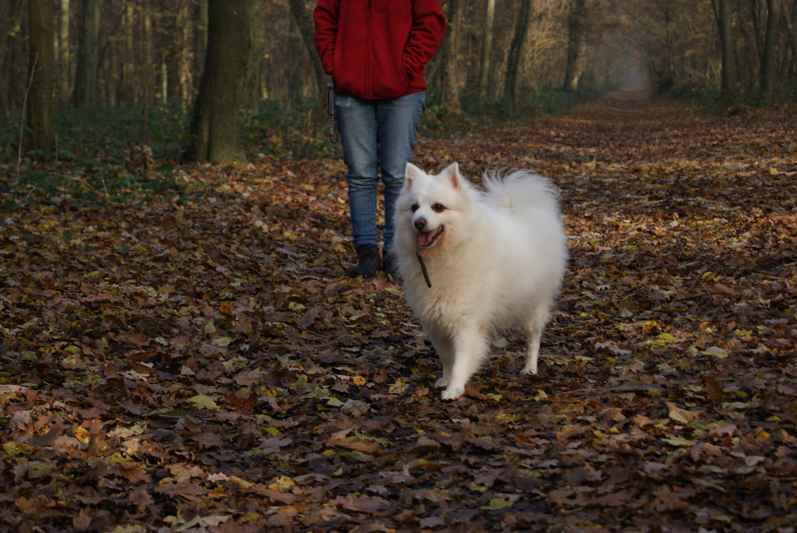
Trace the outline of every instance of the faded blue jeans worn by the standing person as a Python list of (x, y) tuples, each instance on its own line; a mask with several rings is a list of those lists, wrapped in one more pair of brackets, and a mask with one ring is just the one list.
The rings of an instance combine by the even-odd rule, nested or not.
[(378, 171), (385, 184), (384, 250), (393, 247), (393, 212), (404, 186), (404, 169), (412, 161), (415, 132), (426, 109), (426, 94), (395, 100), (369, 100), (336, 93), (336, 115), (344, 163), (348, 166), (351, 234), (355, 247), (379, 244), (376, 232)]

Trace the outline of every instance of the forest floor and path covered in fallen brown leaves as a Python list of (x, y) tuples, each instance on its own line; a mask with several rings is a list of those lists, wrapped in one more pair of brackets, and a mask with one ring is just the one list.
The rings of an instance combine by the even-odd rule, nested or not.
[(610, 95), (421, 139), (427, 171), (552, 177), (571, 236), (540, 375), (508, 334), (453, 403), (400, 284), (343, 275), (340, 161), (14, 212), (2, 527), (791, 531), (794, 119)]

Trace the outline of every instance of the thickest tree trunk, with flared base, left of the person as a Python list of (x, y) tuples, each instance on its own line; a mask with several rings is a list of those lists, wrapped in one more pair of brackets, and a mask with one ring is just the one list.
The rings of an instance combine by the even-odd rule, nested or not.
[(243, 161), (238, 146), (238, 112), (249, 56), (246, 0), (209, 0), (205, 66), (194, 102), (185, 159)]

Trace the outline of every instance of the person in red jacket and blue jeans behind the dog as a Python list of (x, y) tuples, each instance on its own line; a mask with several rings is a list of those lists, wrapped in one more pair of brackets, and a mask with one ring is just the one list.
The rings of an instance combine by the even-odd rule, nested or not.
[[(336, 91), (336, 119), (348, 166), (351, 228), (358, 265), (395, 275), (393, 211), (412, 161), (426, 108), (423, 69), (434, 56), (446, 17), (440, 0), (318, 0), (316, 50)], [(376, 228), (376, 186), (384, 182), (383, 257)]]

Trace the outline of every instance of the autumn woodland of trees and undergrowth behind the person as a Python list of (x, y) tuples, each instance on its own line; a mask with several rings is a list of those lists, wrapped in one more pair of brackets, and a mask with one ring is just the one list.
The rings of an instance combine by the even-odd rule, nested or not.
[[(172, 161), (181, 154), (200, 160), (336, 154), (324, 143), (328, 80), (312, 45), (313, 3), (218, 3), (219, 15), (211, 18), (218, 34), (241, 37), (220, 41), (219, 49), (238, 58), (226, 60), (238, 66), (209, 73), (223, 83), (209, 84), (207, 92), (234, 98), (206, 113), (243, 111), (243, 154), (237, 123), (224, 134), (234, 150), (206, 154), (186, 146), (194, 146), (189, 123), (206, 68), (207, 3), (2, 2), (0, 159), (102, 153), (128, 161), (138, 145), (151, 145), (144, 161), (147, 150)], [(426, 68), (427, 132), (444, 123), (473, 128), (555, 111), (625, 86), (723, 108), (795, 94), (795, 0), (443, 4), (446, 39)], [(240, 20), (222, 16), (235, 6), (242, 8)]]

